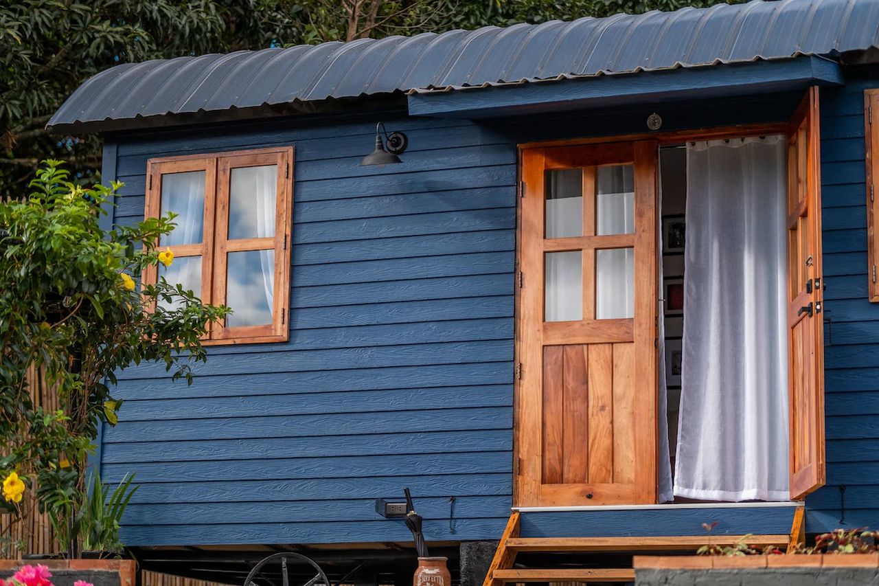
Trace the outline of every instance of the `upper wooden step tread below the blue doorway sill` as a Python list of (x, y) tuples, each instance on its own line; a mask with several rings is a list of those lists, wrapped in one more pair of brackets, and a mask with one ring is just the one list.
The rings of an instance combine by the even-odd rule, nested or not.
[[(506, 548), (515, 552), (663, 552), (695, 551), (708, 543), (731, 546), (743, 535), (615, 538), (508, 538)], [(788, 535), (752, 535), (749, 546), (788, 546)]]

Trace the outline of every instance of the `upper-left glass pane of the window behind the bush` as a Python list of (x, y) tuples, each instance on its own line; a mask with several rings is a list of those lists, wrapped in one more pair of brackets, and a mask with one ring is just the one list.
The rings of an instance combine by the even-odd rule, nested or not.
[(177, 228), (159, 238), (163, 246), (200, 244), (205, 223), (205, 172), (166, 173), (162, 176), (162, 216), (174, 212)]

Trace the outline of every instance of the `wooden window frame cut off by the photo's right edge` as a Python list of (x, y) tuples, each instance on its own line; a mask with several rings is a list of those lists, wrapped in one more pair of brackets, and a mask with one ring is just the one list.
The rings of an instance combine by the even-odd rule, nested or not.
[(873, 124), (873, 111), (879, 116), (879, 88), (864, 91), (864, 161), (867, 165), (867, 283), (868, 299), (879, 302), (879, 238), (875, 237), (875, 219), (879, 217), (879, 123)]

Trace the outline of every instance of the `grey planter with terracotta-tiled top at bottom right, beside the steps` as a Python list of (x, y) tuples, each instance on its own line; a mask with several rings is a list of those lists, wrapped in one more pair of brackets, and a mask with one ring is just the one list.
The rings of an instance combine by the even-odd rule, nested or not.
[(879, 553), (819, 555), (636, 555), (635, 583), (689, 586), (841, 586), (875, 583)]

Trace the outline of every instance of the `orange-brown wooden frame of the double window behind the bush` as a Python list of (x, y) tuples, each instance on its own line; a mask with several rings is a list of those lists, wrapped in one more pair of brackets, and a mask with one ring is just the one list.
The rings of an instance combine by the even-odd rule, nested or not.
[[(271, 238), (229, 240), (229, 187), (232, 169), (277, 165), (275, 233)], [(290, 297), (290, 264), (293, 227), (294, 147), (229, 150), (179, 157), (157, 157), (147, 161), (145, 217), (158, 217), (162, 209), (162, 176), (174, 172), (205, 172), (205, 217), (202, 242), (171, 246), (175, 258), (201, 256), (200, 299), (206, 304), (226, 301), (225, 277), (229, 253), (273, 250), (274, 296), (272, 323), (260, 326), (227, 327), (225, 321), (208, 324), (202, 344), (255, 344), (287, 341)], [(157, 267), (143, 271), (144, 284), (157, 281)], [(155, 307), (154, 307), (155, 309)]]

